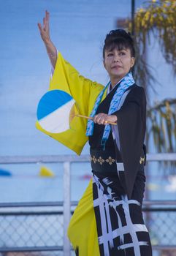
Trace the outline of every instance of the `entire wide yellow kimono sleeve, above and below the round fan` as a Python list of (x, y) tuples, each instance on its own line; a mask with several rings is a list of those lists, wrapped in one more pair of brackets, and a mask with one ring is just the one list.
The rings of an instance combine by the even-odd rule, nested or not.
[[(68, 61), (66, 61), (61, 53), (58, 53), (53, 78), (50, 80), (49, 90), (62, 90), (72, 95), (76, 101), (77, 111), (85, 116), (89, 116), (93, 108), (96, 97), (99, 92), (104, 89), (99, 83), (84, 78), (77, 72)], [(87, 119), (73, 118), (72, 127), (58, 134), (45, 131), (37, 122), (36, 127), (50, 137), (63, 143), (77, 154), (83, 150), (88, 138), (85, 136)]]

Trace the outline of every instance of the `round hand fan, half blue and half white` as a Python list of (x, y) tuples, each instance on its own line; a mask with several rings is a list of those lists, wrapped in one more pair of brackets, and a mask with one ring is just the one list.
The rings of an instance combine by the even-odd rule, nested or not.
[(65, 91), (52, 90), (39, 101), (37, 119), (47, 132), (60, 133), (69, 129), (69, 114), (75, 100)]

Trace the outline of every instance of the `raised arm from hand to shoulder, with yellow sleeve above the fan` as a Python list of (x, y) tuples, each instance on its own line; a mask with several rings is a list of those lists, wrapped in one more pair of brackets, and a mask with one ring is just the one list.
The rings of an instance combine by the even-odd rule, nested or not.
[(49, 12), (46, 11), (45, 18), (43, 18), (43, 25), (38, 23), (38, 27), (54, 69), (52, 79), (50, 80), (50, 89), (63, 90), (72, 95), (77, 102), (78, 112), (84, 116), (88, 116), (91, 113), (96, 97), (104, 86), (84, 78), (77, 72), (77, 69), (72, 67), (63, 58), (61, 53), (57, 52), (55, 45), (53, 45), (50, 39), (49, 15)]

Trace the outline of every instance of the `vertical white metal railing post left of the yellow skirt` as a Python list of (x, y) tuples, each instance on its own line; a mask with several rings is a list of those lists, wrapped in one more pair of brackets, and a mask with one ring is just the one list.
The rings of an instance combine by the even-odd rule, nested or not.
[(64, 256), (70, 256), (67, 228), (70, 219), (70, 162), (64, 162)]

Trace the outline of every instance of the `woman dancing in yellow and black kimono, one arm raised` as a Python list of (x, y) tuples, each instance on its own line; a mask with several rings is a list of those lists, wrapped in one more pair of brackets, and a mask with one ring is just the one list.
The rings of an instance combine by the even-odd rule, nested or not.
[(150, 237), (142, 218), (146, 100), (144, 89), (131, 75), (133, 40), (122, 29), (107, 34), (103, 62), (110, 83), (103, 87), (80, 76), (57, 53), (50, 40), (48, 12), (43, 26), (38, 26), (55, 69), (50, 89), (69, 91), (80, 112), (93, 117), (87, 124), (80, 120), (69, 140), (64, 134), (51, 135), (78, 154), (87, 138), (90, 144), (93, 177), (68, 230), (76, 255), (150, 256)]

